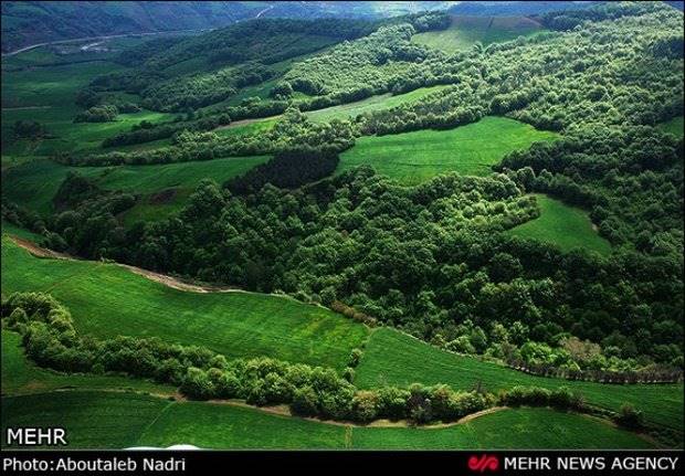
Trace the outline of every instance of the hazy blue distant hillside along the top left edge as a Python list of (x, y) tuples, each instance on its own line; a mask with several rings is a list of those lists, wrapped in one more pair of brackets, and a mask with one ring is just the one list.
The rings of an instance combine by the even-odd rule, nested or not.
[(126, 33), (209, 30), (254, 18), (379, 18), (433, 10), (449, 2), (63, 2), (2, 3), (2, 52), (51, 41)]

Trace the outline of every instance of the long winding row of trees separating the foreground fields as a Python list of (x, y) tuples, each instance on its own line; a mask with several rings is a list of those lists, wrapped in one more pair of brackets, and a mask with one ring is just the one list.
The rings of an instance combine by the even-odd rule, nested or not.
[(334, 420), (376, 419), (415, 423), (455, 421), (507, 404), (583, 409), (582, 396), (567, 389), (515, 388), (497, 396), (446, 385), (412, 384), (358, 390), (334, 370), (275, 359), (226, 360), (202, 347), (165, 343), (157, 338), (78, 336), (68, 310), (52, 296), (14, 293), (2, 299), (3, 327), (19, 331), (36, 363), (67, 372), (116, 372), (179, 385), (193, 399), (243, 399), (255, 405), (289, 404), (294, 413)]

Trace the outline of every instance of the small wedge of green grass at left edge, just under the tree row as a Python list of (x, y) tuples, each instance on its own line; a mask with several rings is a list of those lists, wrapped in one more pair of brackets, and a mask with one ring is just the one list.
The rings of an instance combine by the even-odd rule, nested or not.
[(17, 332), (2, 331), (2, 394), (40, 393), (56, 389), (137, 390), (172, 394), (176, 389), (119, 375), (66, 374), (36, 367), (27, 359)]

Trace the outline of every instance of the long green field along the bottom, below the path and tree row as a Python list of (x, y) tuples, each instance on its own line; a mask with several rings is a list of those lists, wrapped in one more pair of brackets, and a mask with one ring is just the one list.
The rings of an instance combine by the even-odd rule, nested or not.
[(605, 422), (548, 409), (503, 410), (442, 429), (357, 427), (221, 403), (169, 402), (133, 393), (83, 391), (3, 398), (3, 434), (6, 427), (19, 425), (63, 426), (71, 447), (653, 447), (637, 435)]

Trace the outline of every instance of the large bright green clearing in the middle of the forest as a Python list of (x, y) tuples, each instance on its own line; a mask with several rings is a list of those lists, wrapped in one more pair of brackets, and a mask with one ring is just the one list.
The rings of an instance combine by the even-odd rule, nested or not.
[(415, 184), (450, 171), (486, 176), (491, 166), (513, 150), (554, 140), (557, 134), (505, 117), (484, 117), (449, 130), (417, 130), (379, 137), (360, 137), (340, 155), (337, 172), (361, 165), (404, 184)]

